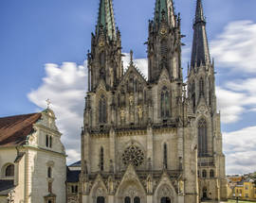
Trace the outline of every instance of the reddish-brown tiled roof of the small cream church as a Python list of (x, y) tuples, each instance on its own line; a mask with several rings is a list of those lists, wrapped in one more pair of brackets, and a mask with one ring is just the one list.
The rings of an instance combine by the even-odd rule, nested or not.
[(25, 144), (27, 135), (33, 131), (33, 124), (41, 116), (41, 113), (31, 113), (0, 118), (0, 147)]

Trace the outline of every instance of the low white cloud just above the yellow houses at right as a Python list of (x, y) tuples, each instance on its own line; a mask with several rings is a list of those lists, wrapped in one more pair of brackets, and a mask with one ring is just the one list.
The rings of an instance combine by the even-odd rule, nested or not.
[(228, 174), (244, 174), (256, 170), (256, 127), (224, 133), (224, 150)]

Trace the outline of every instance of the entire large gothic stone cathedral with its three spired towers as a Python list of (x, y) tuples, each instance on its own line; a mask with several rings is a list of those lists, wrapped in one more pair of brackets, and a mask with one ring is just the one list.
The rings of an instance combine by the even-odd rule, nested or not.
[(87, 55), (82, 203), (227, 199), (214, 64), (201, 0), (193, 30), (185, 82), (180, 17), (173, 0), (155, 0), (147, 41), (148, 78), (138, 71), (132, 51), (124, 73), (112, 0), (101, 0)]

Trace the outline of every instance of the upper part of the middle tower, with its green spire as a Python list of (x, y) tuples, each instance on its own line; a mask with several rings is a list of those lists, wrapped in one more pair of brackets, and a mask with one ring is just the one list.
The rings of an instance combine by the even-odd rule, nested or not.
[(155, 17), (149, 23), (149, 81), (158, 80), (163, 69), (171, 80), (182, 80), (180, 18), (173, 0), (156, 0)]

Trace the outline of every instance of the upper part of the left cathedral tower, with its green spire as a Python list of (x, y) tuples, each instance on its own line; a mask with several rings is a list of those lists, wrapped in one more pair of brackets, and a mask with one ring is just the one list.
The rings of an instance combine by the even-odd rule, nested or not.
[(115, 25), (113, 3), (101, 0), (95, 34), (88, 53), (88, 87), (95, 91), (102, 80), (113, 89), (122, 76), (120, 32)]

